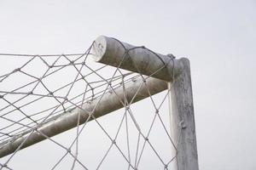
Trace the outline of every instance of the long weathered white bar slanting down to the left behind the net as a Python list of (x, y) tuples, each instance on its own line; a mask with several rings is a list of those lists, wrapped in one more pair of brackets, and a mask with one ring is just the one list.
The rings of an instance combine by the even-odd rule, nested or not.
[[(147, 87), (144, 83), (142, 84), (145, 80)], [(10, 139), (5, 143), (0, 144), (0, 157), (15, 152), (15, 150), (20, 147), (20, 144), (22, 144), (20, 149), (23, 149), (47, 139), (45, 136), (50, 138), (73, 127), (77, 127), (78, 119), (79, 124), (82, 124), (86, 122), (90, 113), (97, 118), (107, 115), (112, 111), (119, 110), (124, 107), (122, 102), (125, 103), (125, 98), (128, 102), (135, 103), (139, 100), (148, 98), (149, 95), (158, 94), (166, 90), (166, 88), (167, 83), (165, 81), (153, 77), (144, 80), (143, 78), (135, 79), (125, 84), (125, 91), (123, 87), (115, 88), (113, 89), (114, 92), (103, 94), (102, 97), (98, 97), (90, 103), (85, 103), (79, 108), (74, 108), (59, 116), (51, 118), (48, 122), (37, 127), (37, 131), (32, 131), (32, 129), (30, 129), (25, 133), (20, 134), (17, 138)], [(148, 94), (148, 90), (150, 94)], [(91, 120), (93, 119), (90, 118), (89, 121)]]

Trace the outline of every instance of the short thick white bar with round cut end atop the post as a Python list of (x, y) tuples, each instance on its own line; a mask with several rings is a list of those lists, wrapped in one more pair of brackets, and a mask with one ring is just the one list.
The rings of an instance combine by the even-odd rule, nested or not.
[(148, 48), (135, 47), (111, 37), (101, 36), (93, 43), (96, 62), (134, 71), (172, 82), (183, 70), (182, 62), (172, 55), (156, 54)]

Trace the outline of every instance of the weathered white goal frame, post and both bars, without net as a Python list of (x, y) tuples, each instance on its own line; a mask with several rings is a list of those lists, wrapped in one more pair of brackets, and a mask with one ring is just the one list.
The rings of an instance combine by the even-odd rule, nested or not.
[(96, 38), (92, 50), (96, 62), (137, 72), (142, 77), (126, 83), (126, 90), (122, 87), (113, 88), (113, 92), (51, 117), (38, 127), (28, 129), (14, 139), (3, 142), (0, 144), (0, 157), (77, 127), (78, 122), (83, 124), (119, 110), (124, 107), (125, 102), (132, 104), (167, 89), (171, 137), (175, 145), (175, 150), (172, 150), (173, 169), (198, 170), (189, 59), (175, 59), (173, 55), (156, 54), (148, 48), (135, 47), (104, 36)]

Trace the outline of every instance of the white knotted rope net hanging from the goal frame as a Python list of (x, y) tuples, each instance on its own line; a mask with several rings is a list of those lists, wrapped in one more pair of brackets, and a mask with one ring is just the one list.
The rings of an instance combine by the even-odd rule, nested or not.
[[(94, 110), (83, 113), (88, 114), (86, 121), (79, 123), (78, 118), (76, 127), (53, 137), (38, 130), (73, 108), (83, 109), (81, 105), (100, 101), (104, 94), (115, 94), (117, 88), (125, 92), (129, 82), (142, 79), (147, 87), (148, 77), (95, 63), (90, 50), (91, 46), (84, 54), (0, 54), (0, 170), (172, 167), (177, 144), (169, 133), (167, 90), (155, 95), (148, 91), (147, 99), (132, 105), (124, 93), (122, 109), (99, 117)], [(45, 140), (23, 149), (33, 133)], [(26, 137), (15, 145), (22, 136)], [(7, 144), (14, 150), (1, 154)]]

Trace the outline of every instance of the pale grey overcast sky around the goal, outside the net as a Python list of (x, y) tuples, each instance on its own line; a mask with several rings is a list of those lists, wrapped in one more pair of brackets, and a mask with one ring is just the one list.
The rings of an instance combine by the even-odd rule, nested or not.
[(0, 53), (82, 53), (106, 35), (187, 57), (200, 168), (253, 170), (255, 16), (255, 0), (0, 0)]

